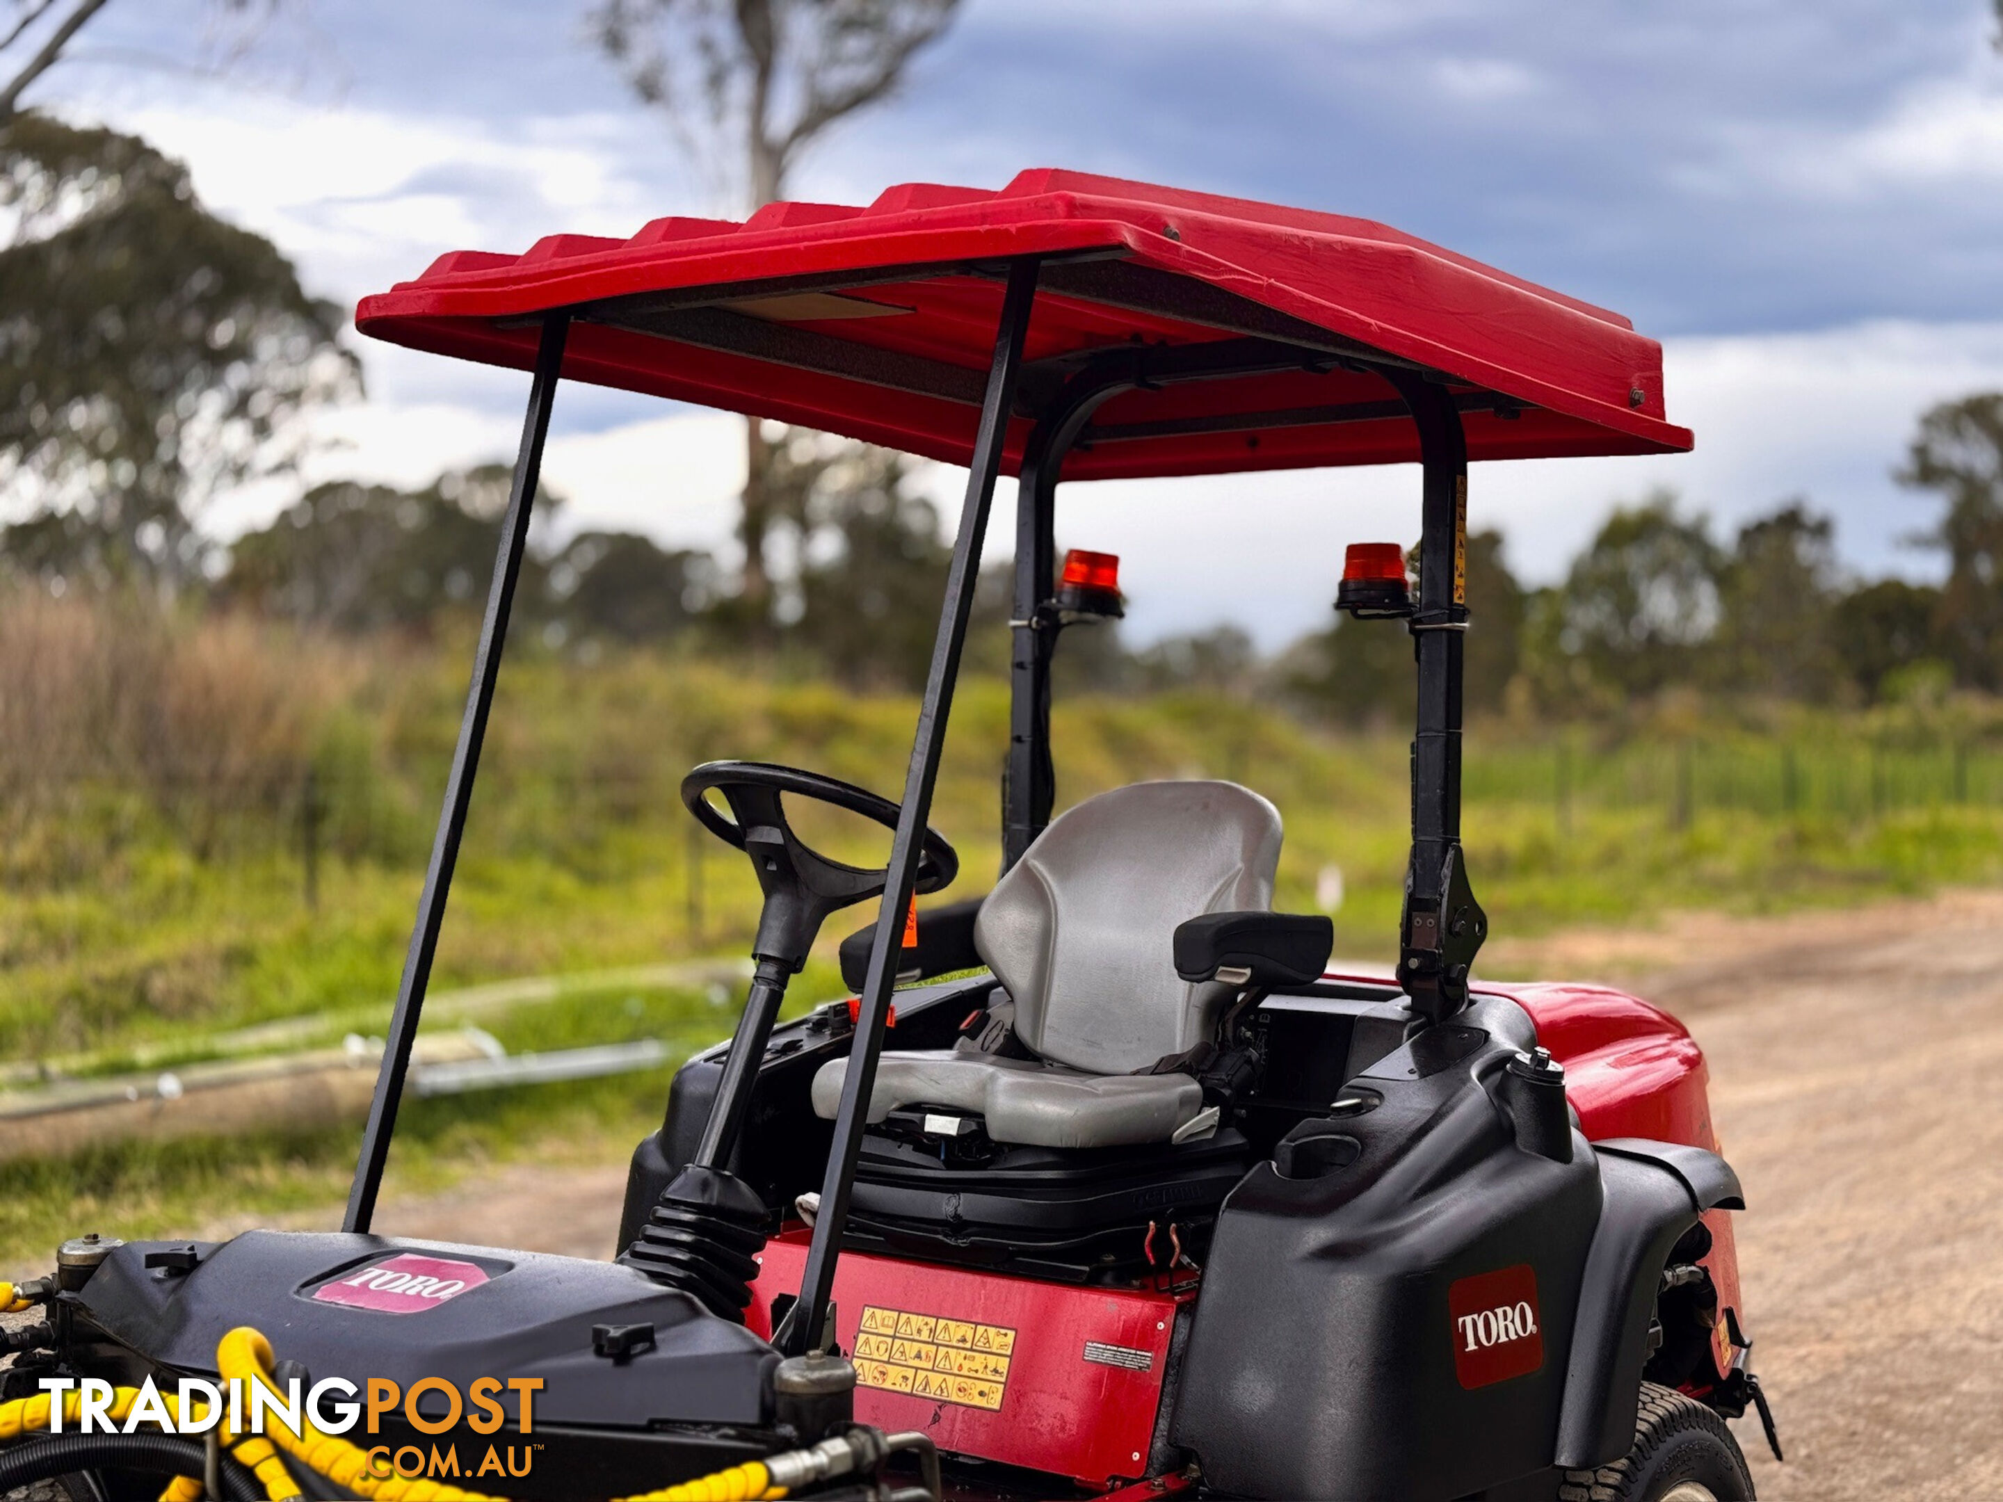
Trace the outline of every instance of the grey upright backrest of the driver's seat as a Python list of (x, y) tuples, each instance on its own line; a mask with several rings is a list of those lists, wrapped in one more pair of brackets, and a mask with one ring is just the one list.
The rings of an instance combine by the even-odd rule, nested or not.
[(1208, 1039), (1232, 987), (1176, 975), (1176, 925), (1272, 907), (1280, 811), (1238, 783), (1134, 783), (1058, 817), (973, 925), (1016, 1035), (1092, 1073)]

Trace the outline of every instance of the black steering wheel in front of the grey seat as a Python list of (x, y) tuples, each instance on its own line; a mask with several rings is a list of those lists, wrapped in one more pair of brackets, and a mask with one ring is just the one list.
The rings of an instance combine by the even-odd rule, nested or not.
[[(705, 797), (711, 789), (729, 803), (731, 817)], [(881, 895), (889, 885), (889, 871), (831, 861), (805, 845), (785, 819), (779, 801), (785, 793), (859, 813), (887, 829), (897, 827), (899, 807), (855, 783), (799, 767), (775, 767), (769, 761), (705, 761), (681, 779), (681, 801), (697, 823), (725, 845), (745, 851), (757, 871), (765, 909), (759, 913), (751, 953), (759, 959), (779, 959), (797, 971), (827, 915)], [(937, 829), (925, 829), (917, 857), (917, 891), (939, 891), (955, 875), (959, 875), (959, 855)]]

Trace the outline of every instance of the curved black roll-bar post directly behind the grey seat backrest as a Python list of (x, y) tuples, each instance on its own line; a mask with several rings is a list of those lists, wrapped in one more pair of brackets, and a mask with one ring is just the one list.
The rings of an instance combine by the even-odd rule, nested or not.
[(1080, 374), (1030, 433), (1016, 489), (1016, 601), (1010, 653), (1008, 767), (1002, 775), (1002, 871), (1036, 843), (1058, 801), (1050, 757), (1050, 659), (1058, 651), (1056, 513), (1064, 457), (1132, 374)]

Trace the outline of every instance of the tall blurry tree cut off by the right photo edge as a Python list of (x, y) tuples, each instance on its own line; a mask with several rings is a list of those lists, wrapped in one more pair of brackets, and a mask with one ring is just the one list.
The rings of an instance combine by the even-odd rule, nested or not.
[(1897, 481), (1947, 501), (1921, 541), (1947, 553), (1935, 617), (1955, 677), (2003, 689), (2003, 393), (1941, 403), (1919, 419)]

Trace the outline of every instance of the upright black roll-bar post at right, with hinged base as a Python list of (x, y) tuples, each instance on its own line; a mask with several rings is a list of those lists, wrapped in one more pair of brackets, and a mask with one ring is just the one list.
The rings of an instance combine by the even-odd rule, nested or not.
[(1410, 619), (1418, 665), (1412, 737), (1412, 859), (1398, 923), (1398, 983), (1426, 1021), (1468, 1003), (1468, 969), (1488, 917), (1468, 887), (1460, 851), (1460, 693), (1468, 629), (1468, 445), (1452, 395), (1434, 381), (1386, 370), (1418, 427), (1422, 533), (1418, 609)]

